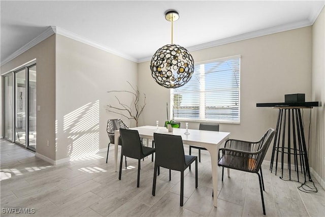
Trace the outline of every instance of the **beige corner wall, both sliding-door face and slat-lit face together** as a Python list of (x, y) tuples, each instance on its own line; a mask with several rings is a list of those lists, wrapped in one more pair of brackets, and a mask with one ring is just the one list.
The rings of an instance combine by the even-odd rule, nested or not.
[[(2, 66), (1, 74), (34, 58), (37, 105), (41, 106), (37, 113), (38, 154), (54, 163), (69, 158), (96, 158), (94, 154), (106, 149), (109, 141), (107, 119), (122, 118), (128, 126), (135, 126), (121, 115), (106, 112), (106, 105), (117, 105), (115, 95), (107, 91), (131, 90), (126, 81), (137, 85), (136, 63), (53, 35)], [(131, 106), (131, 95), (116, 96)]]

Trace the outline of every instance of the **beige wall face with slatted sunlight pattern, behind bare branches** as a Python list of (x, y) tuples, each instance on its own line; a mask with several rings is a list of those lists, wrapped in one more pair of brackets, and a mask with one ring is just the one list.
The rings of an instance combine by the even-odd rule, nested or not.
[(117, 106), (115, 95), (131, 106), (132, 95), (108, 94), (109, 90), (132, 90), (137, 85), (137, 64), (70, 38), (56, 36), (56, 160), (96, 158), (109, 142), (109, 118), (121, 118), (106, 111)]

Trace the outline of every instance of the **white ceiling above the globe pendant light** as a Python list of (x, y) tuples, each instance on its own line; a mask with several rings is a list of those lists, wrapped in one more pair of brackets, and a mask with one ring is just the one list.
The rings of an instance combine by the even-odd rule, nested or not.
[(1, 64), (44, 33), (57, 34), (124, 58), (149, 60), (171, 43), (189, 51), (312, 25), (325, 1), (1, 1)]

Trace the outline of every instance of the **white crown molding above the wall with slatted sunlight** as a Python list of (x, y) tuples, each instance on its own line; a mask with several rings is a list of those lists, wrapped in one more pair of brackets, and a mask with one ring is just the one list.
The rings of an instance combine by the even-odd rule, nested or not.
[(81, 37), (81, 36), (79, 36), (79, 35), (77, 35), (77, 34), (75, 34), (75, 33), (72, 33), (72, 32), (70, 32), (70, 31), (66, 30), (66, 29), (63, 29), (63, 28), (60, 28), (60, 27), (57, 27), (57, 26), (56, 26), (56, 34), (61, 35), (61, 36), (65, 36), (65, 37), (67, 37), (67, 38), (70, 38), (70, 39), (73, 39), (73, 40), (79, 41), (79, 42), (81, 42), (81, 43), (84, 43), (84, 44), (90, 45), (90, 46), (92, 46), (92, 47), (95, 47), (95, 48), (98, 48), (98, 49), (101, 49), (101, 50), (104, 50), (104, 51), (107, 51), (107, 52), (109, 52), (109, 53), (112, 53), (112, 54), (114, 54), (114, 55), (117, 55), (117, 56), (123, 57), (123, 58), (125, 58), (125, 59), (131, 60), (131, 61), (134, 61), (134, 62), (137, 63), (137, 59), (134, 58), (134, 57), (132, 57), (132, 56), (129, 56), (129, 55), (126, 55), (126, 54), (124, 54), (124, 53), (120, 53), (120, 52), (118, 52), (118, 51), (116, 51), (116, 50), (110, 49), (110, 48), (108, 48), (108, 47), (106, 47), (106, 46), (104, 46), (104, 45), (101, 45), (101, 44), (99, 44), (99, 43), (93, 42), (93, 41), (91, 41), (91, 40), (89, 40), (89, 39), (86, 39), (86, 38), (84, 38), (84, 37)]

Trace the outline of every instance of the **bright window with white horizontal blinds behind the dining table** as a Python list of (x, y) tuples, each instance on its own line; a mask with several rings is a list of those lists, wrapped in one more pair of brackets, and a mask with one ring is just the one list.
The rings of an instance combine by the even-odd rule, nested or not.
[(198, 63), (187, 84), (171, 89), (175, 120), (240, 122), (240, 56)]

